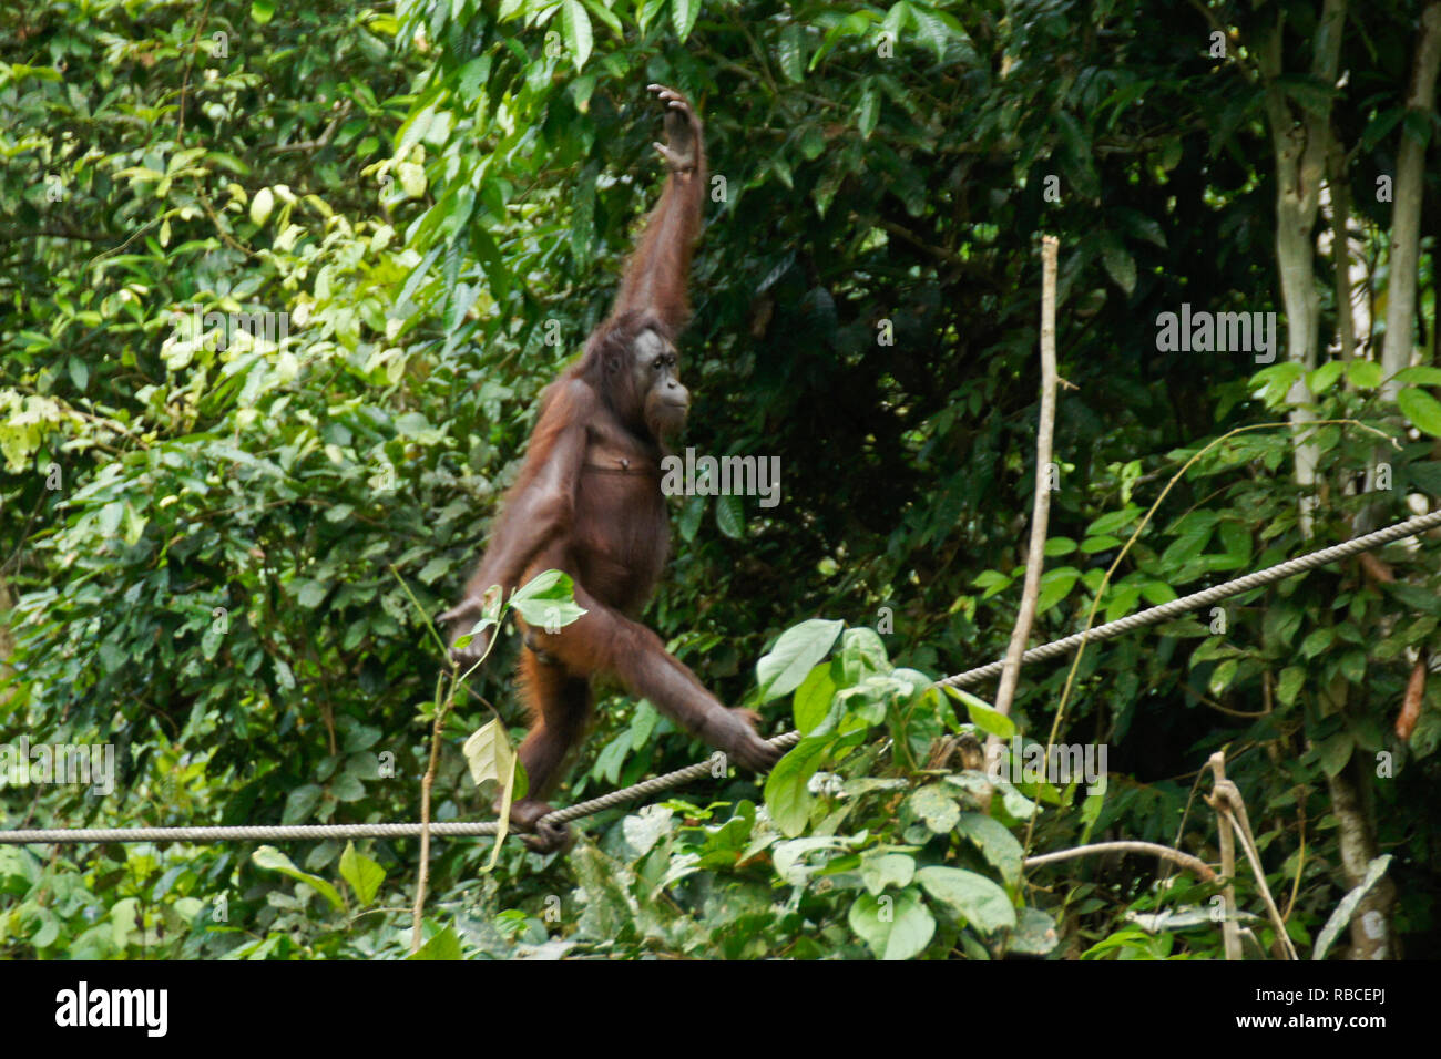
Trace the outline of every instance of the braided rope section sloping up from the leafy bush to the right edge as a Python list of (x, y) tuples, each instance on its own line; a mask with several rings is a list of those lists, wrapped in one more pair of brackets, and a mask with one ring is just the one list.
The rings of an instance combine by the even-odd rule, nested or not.
[[(1045, 661), (1046, 658), (1069, 654), (1081, 644), (1112, 640), (1123, 633), (1130, 633), (1131, 630), (1156, 625), (1161, 621), (1170, 621), (1172, 618), (1177, 618), (1187, 611), (1199, 609), (1206, 604), (1218, 602), (1226, 596), (1239, 595), (1241, 592), (1248, 592), (1252, 588), (1261, 588), (1262, 585), (1284, 581), (1293, 573), (1314, 571), (1317, 566), (1326, 566), (1337, 559), (1347, 559), (1353, 555), (1359, 555), (1360, 552), (1369, 552), (1373, 548), (1389, 545), (1395, 540), (1401, 540), (1402, 537), (1421, 533), (1422, 530), (1435, 529), (1437, 526), (1441, 526), (1441, 510), (1431, 511), (1429, 514), (1418, 514), (1415, 519), (1398, 522), (1395, 526), (1388, 526), (1386, 529), (1379, 529), (1359, 537), (1352, 537), (1350, 540), (1343, 540), (1339, 545), (1323, 548), (1319, 552), (1303, 555), (1298, 559), (1287, 559), (1275, 566), (1267, 566), (1264, 571), (1246, 573), (1244, 578), (1226, 581), (1215, 588), (1183, 595), (1179, 599), (1172, 599), (1169, 604), (1151, 607), (1150, 609), (1138, 611), (1117, 621), (1108, 621), (1104, 625), (1097, 625), (1088, 633), (1076, 633), (1065, 637), (1063, 640), (1053, 640), (1042, 647), (1032, 647), (1020, 656), (1020, 660), (1023, 663)], [(937, 683), (948, 687), (967, 687), (970, 684), (977, 684), (987, 677), (997, 676), (1004, 667), (1006, 660), (1001, 658), (1000, 661), (993, 661), (989, 666), (980, 666), (977, 669), (965, 670), (964, 673), (957, 673), (955, 676)]]

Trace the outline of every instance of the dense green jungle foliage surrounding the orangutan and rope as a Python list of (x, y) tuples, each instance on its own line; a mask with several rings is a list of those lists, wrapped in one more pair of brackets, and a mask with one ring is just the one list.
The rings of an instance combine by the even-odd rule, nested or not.
[[(1069, 692), (1065, 664), (1030, 667), (1009, 719), (931, 686), (1004, 654), (1020, 598), (1040, 232), (1061, 239), (1068, 385), (1033, 643), (1098, 594), (1097, 620), (1121, 617), (1441, 493), (1441, 167), (1435, 114), (1406, 111), (1422, 4), (1347, 10), (1339, 86), (1308, 72), (1321, 7), (7, 7), (0, 743), (111, 743), (117, 785), (7, 784), (3, 827), (416, 818), (444, 671), (425, 615), (610, 308), (659, 186), (659, 81), (697, 102), (720, 177), (684, 444), (780, 457), (782, 494), (674, 501), (646, 620), (804, 739), (764, 787), (732, 772), (586, 821), (569, 857), (507, 843), (487, 870), (490, 841), (438, 841), (422, 954), (1219, 957), (1215, 924), (1182, 915), (1215, 886), (1148, 857), (1022, 859), (1144, 839), (1215, 863), (1200, 769), (1225, 748), (1303, 955), (1368, 867), (1342, 834), (1357, 820), (1392, 854), (1404, 952), (1434, 955), (1441, 682), (1393, 729), (1441, 647), (1434, 540), (1092, 647)], [(1281, 9), (1284, 72), (1258, 73)], [(1355, 352), (1163, 350), (1183, 303), (1282, 308), (1268, 98), (1329, 115)], [(1432, 164), (1417, 366), (1392, 382), (1375, 189), (1405, 137)], [(1330, 424), (1306, 438), (1310, 526), (1298, 408)], [(519, 732), (513, 653), (454, 702), (437, 818), (488, 813), (461, 743), (497, 713)], [(1046, 743), (1063, 694), (1056, 738), (1110, 745), (1104, 788), (987, 785), (965, 748)], [(562, 801), (703, 754), (648, 703), (598, 715)], [(1339, 817), (1339, 791), (1360, 808)], [(416, 860), (414, 841), (0, 846), (0, 951), (402, 957)], [(1248, 954), (1274, 952), (1244, 867), (1238, 892)], [(1159, 911), (1176, 926), (1143, 929)]]

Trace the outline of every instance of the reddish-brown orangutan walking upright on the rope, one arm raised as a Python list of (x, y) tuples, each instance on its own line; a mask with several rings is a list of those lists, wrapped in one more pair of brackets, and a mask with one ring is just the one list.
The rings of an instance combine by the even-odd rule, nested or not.
[[(689, 104), (670, 89), (653, 85), (651, 91), (669, 104), (661, 154), (672, 171), (660, 205), (627, 265), (610, 318), (586, 340), (585, 356), (542, 396), (490, 548), (464, 599), (441, 615), (454, 622), (455, 635), (468, 633), (491, 586), (509, 594), (546, 569), (568, 572), (575, 599), (586, 609), (556, 633), (516, 622), (526, 644), (520, 690), (532, 716), (519, 751), (530, 788), (512, 807), (522, 830), (535, 828), (549, 811), (545, 797), (584, 733), (595, 674), (614, 674), (631, 694), (644, 696), (738, 764), (765, 769), (780, 756), (755, 733), (754, 713), (722, 706), (660, 637), (635, 621), (669, 550), (660, 493), (663, 438), (656, 424), (684, 414), (673, 341), (690, 316), (686, 285), (706, 179), (700, 122)], [(659, 341), (638, 341), (647, 330)], [(646, 392), (638, 390), (637, 373), (653, 379)], [(457, 656), (468, 663), (484, 647), (481, 635)], [(529, 840), (533, 849), (568, 841), (565, 827), (537, 830)]]

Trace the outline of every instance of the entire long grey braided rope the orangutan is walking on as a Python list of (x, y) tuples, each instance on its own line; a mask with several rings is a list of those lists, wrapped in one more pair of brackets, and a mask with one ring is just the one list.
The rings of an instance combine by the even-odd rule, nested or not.
[[(1277, 581), (1284, 581), (1294, 573), (1304, 573), (1306, 571), (1313, 571), (1317, 566), (1326, 566), (1337, 559), (1349, 559), (1360, 552), (1368, 552), (1373, 548), (1380, 548), (1382, 545), (1389, 545), (1404, 537), (1415, 536), (1424, 530), (1441, 527), (1441, 510), (1431, 511), (1429, 514), (1418, 514), (1414, 519), (1406, 519), (1405, 522), (1398, 522), (1386, 529), (1379, 529), (1372, 533), (1363, 533), (1359, 537), (1352, 537), (1350, 540), (1343, 540), (1339, 545), (1331, 545), (1330, 548), (1323, 548), (1319, 552), (1311, 552), (1310, 555), (1303, 555), (1298, 559), (1287, 559), (1285, 562), (1277, 563), (1275, 566), (1267, 566), (1264, 571), (1257, 571), (1254, 573), (1246, 573), (1242, 578), (1233, 581), (1226, 581), (1213, 588), (1203, 589), (1200, 592), (1192, 592), (1190, 595), (1183, 595), (1179, 599), (1172, 599), (1169, 604), (1161, 604), (1160, 607), (1151, 607), (1144, 611), (1138, 611), (1118, 621), (1108, 621), (1104, 625), (1097, 625), (1087, 633), (1076, 633), (1074, 635), (1063, 637), (1062, 640), (1055, 640), (1042, 647), (1033, 647), (1020, 656), (1022, 663), (1027, 661), (1045, 661), (1046, 658), (1055, 658), (1058, 656), (1066, 654), (1081, 644), (1099, 643), (1102, 640), (1114, 640), (1123, 633), (1130, 633), (1137, 628), (1146, 628), (1148, 625), (1156, 625), (1163, 621), (1170, 621), (1172, 618), (1180, 617), (1187, 611), (1195, 611), (1206, 604), (1213, 604), (1232, 595), (1239, 595), (1241, 592), (1249, 592), (1254, 588), (1262, 588), (1264, 585), (1272, 585)], [(1006, 661), (993, 661), (989, 666), (980, 666), (973, 670), (965, 670), (964, 673), (957, 673), (955, 676), (938, 680), (937, 686), (942, 687), (967, 687), (970, 684), (978, 684), (987, 677), (997, 676), (1001, 669), (1004, 669)], [(778, 735), (771, 739), (771, 745), (777, 749), (788, 751), (791, 746), (801, 741), (801, 733), (797, 730), (787, 732), (785, 735)], [(548, 813), (540, 817), (540, 820), (550, 824), (565, 824), (572, 820), (579, 820), (581, 817), (594, 816), (602, 810), (612, 808), (627, 801), (634, 801), (635, 798), (644, 798), (650, 794), (660, 794), (661, 791), (669, 791), (673, 787), (680, 787), (692, 779), (702, 779), (710, 774), (710, 761), (699, 761), (695, 765), (687, 765), (686, 768), (676, 769), (674, 772), (667, 772), (664, 775), (651, 777), (643, 782), (634, 784), (631, 787), (623, 787), (618, 791), (611, 791), (610, 794), (602, 794), (599, 798), (591, 798), (589, 801), (576, 803), (555, 813)], [(235, 841), (235, 840), (284, 840), (284, 839), (412, 839), (421, 834), (421, 824), (305, 824), (294, 827), (107, 827), (107, 828), (43, 828), (43, 830), (27, 830), (27, 831), (0, 831), (0, 844), (24, 844), (24, 843), (84, 843), (84, 841)], [(441, 823), (431, 824), (429, 833), (434, 837), (477, 837), (496, 833), (496, 821), (486, 823)]]

